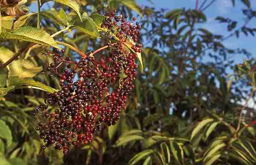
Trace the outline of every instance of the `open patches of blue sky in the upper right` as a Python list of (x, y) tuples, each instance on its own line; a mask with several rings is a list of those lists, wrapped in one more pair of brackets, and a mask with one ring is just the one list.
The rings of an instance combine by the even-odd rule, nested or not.
[[(154, 4), (150, 3), (148, 0), (136, 0), (138, 4), (142, 6), (151, 6), (156, 9), (177, 9), (183, 8), (186, 9), (195, 9), (196, 0), (151, 0)], [(204, 0), (199, 0), (199, 5)], [(256, 10), (256, 0), (250, 0), (251, 7), (253, 10)], [(208, 3), (210, 0), (208, 0)], [(227, 24), (218, 23), (215, 20), (215, 17), (229, 17), (232, 20), (238, 22), (237, 27), (240, 27), (244, 23), (244, 15), (242, 14), (242, 9), (247, 9), (247, 7), (241, 3), (241, 0), (236, 0), (236, 6), (233, 7), (231, 0), (216, 0), (204, 13), (207, 16), (207, 23), (201, 25), (201, 27), (208, 29), (209, 31), (227, 36), (230, 33), (227, 32)], [(247, 27), (256, 27), (256, 17), (247, 24)], [(252, 56), (256, 58), (256, 37), (248, 35), (247, 37), (244, 34), (240, 34), (240, 38), (232, 37), (224, 41), (224, 45), (228, 48), (244, 48), (247, 51), (252, 53)], [(255, 52), (255, 53), (254, 53)], [(246, 58), (244, 55), (236, 55), (233, 57), (235, 63), (241, 63), (242, 60)]]

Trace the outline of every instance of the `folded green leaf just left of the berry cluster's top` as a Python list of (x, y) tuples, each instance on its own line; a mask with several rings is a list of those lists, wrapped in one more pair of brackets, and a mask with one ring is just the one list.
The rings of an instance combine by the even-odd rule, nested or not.
[(94, 38), (98, 37), (96, 24), (91, 17), (88, 17), (86, 12), (82, 14), (82, 20), (83, 22), (79, 20), (79, 17), (75, 17), (73, 20), (71, 20), (71, 25), (75, 26), (79, 31), (84, 32)]

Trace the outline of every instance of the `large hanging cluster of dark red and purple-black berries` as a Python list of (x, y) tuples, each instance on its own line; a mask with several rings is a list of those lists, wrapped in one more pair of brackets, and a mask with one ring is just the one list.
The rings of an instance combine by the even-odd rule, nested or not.
[[(35, 128), (44, 139), (42, 149), (54, 145), (67, 154), (70, 145), (78, 147), (92, 142), (94, 133), (116, 124), (120, 118), (119, 113), (125, 109), (127, 97), (134, 88), (136, 52), (142, 47), (137, 43), (139, 23), (132, 23), (136, 18), (132, 18), (133, 21), (126, 18), (116, 16), (116, 11), (106, 12), (101, 27), (108, 29), (106, 35), (111, 35), (115, 42), (109, 42), (77, 62), (63, 58), (63, 51), (46, 52), (54, 59), (47, 68), (49, 76), (56, 75), (62, 89), (48, 93), (45, 99), (47, 105), (56, 107), (53, 112), (45, 105), (36, 107), (33, 112), (45, 118)], [(94, 55), (103, 49), (109, 50), (108, 58), (97, 60)], [(63, 65), (65, 69), (60, 72)]]

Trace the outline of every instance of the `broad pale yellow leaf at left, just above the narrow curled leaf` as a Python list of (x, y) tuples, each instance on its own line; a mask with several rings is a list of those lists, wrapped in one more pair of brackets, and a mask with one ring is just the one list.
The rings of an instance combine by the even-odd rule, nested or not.
[(12, 61), (9, 65), (9, 77), (18, 76), (20, 78), (30, 78), (34, 77), (42, 69), (42, 67), (36, 67), (32, 61), (19, 59)]

